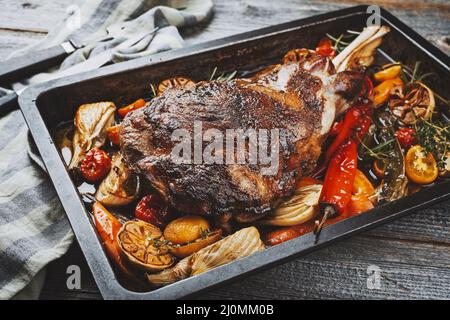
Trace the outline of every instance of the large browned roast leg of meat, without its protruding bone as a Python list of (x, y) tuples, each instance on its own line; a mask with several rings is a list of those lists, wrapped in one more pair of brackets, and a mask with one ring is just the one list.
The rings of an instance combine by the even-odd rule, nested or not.
[[(327, 70), (326, 59), (315, 57), (313, 62), (315, 70), (334, 73)], [(127, 166), (181, 212), (247, 217), (270, 213), (292, 194), (298, 178), (314, 169), (326, 137), (320, 131), (323, 92), (329, 88), (303, 63), (277, 65), (253, 79), (166, 90), (124, 119), (120, 140)], [(175, 164), (172, 133), (185, 129), (193, 137), (195, 121), (202, 122), (203, 132), (279, 129), (276, 174), (261, 175), (258, 164)], [(203, 142), (203, 150), (208, 144)]]

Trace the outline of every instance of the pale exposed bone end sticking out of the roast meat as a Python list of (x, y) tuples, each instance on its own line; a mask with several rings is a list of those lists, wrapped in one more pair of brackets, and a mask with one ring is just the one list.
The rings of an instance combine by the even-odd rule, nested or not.
[(337, 72), (357, 66), (369, 66), (373, 63), (375, 50), (381, 44), (382, 37), (390, 31), (387, 26), (369, 26), (359, 34), (334, 59)]

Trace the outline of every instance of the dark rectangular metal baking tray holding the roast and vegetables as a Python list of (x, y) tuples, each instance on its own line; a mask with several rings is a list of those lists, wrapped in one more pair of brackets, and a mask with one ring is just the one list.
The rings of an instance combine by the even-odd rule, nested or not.
[[(174, 299), (243, 277), (257, 270), (316, 250), (344, 237), (399, 218), (450, 198), (450, 181), (424, 189), (414, 196), (378, 206), (361, 215), (327, 226), (316, 243), (306, 234), (267, 248), (206, 273), (149, 292), (124, 287), (116, 277), (97, 237), (96, 230), (62, 156), (50, 134), (62, 121), (73, 119), (77, 107), (95, 101), (123, 105), (145, 96), (150, 83), (169, 76), (208, 78), (215, 67), (220, 71), (254, 70), (279, 61), (293, 48), (312, 48), (325, 33), (339, 34), (366, 25), (367, 6), (351, 7), (307, 19), (214, 40), (151, 57), (108, 66), (97, 71), (54, 80), (28, 88), (20, 96), (20, 108), (45, 162), (50, 178), (66, 211), (95, 281), (105, 299)], [(387, 59), (414, 65), (422, 61), (427, 71), (438, 75), (433, 89), (446, 95), (450, 83), (450, 59), (389, 12), (381, 11), (382, 24), (391, 27), (379, 52)]]

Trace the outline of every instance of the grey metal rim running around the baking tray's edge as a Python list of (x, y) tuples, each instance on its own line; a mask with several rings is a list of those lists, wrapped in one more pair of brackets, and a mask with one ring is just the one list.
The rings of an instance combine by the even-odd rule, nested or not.
[[(108, 66), (100, 70), (87, 72), (67, 78), (53, 80), (26, 89), (19, 97), (19, 104), (25, 120), (35, 139), (38, 150), (44, 159), (44, 163), (55, 185), (55, 189), (63, 204), (70, 224), (83, 249), (89, 267), (93, 270), (95, 281), (106, 299), (173, 299), (210, 289), (222, 285), (226, 281), (243, 277), (250, 272), (261, 270), (282, 263), (295, 256), (303, 255), (316, 250), (333, 241), (350, 236), (357, 232), (377, 226), (381, 223), (393, 220), (407, 213), (419, 210), (434, 203), (450, 198), (450, 181), (446, 181), (434, 187), (421, 191), (419, 194), (408, 196), (395, 202), (386, 203), (376, 207), (362, 215), (355, 216), (327, 228), (324, 228), (320, 238), (312, 234), (306, 234), (280, 245), (267, 248), (244, 259), (233, 261), (227, 265), (217, 267), (206, 273), (192, 278), (181, 280), (174, 284), (156, 289), (150, 292), (135, 292), (124, 288), (118, 282), (111, 265), (104, 254), (101, 243), (86, 214), (80, 217), (80, 212), (86, 213), (81, 203), (78, 190), (70, 179), (62, 158), (54, 145), (53, 139), (47, 129), (38, 108), (39, 97), (52, 90), (73, 85), (85, 80), (95, 80), (108, 75), (121, 72), (130, 72), (142, 67), (154, 65), (162, 61), (169, 61), (195, 55), (202, 52), (220, 49), (233, 44), (246, 42), (261, 37), (266, 37), (280, 31), (306, 28), (310, 25), (325, 23), (329, 20), (341, 19), (350, 15), (366, 14), (368, 6), (356, 6), (326, 14), (295, 20), (276, 26), (246, 32), (243, 34), (201, 43), (189, 48), (173, 50), (148, 58), (128, 61), (117, 65)], [(423, 53), (427, 54), (441, 67), (450, 72), (450, 58), (439, 49), (427, 42), (423, 37), (411, 30), (396, 17), (386, 10), (381, 10), (382, 20), (399, 31), (404, 37), (412, 41)], [(395, 213), (392, 213), (395, 212)], [(306, 248), (306, 249), (305, 249)]]

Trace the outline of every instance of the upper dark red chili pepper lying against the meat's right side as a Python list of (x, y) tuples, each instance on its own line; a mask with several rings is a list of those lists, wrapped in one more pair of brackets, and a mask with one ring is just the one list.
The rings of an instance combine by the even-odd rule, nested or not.
[(359, 141), (359, 139), (367, 134), (369, 127), (372, 124), (370, 110), (370, 105), (360, 104), (347, 111), (338, 135), (327, 149), (325, 154), (325, 164), (328, 163), (334, 152), (345, 141), (350, 138), (356, 138), (355, 140)]

